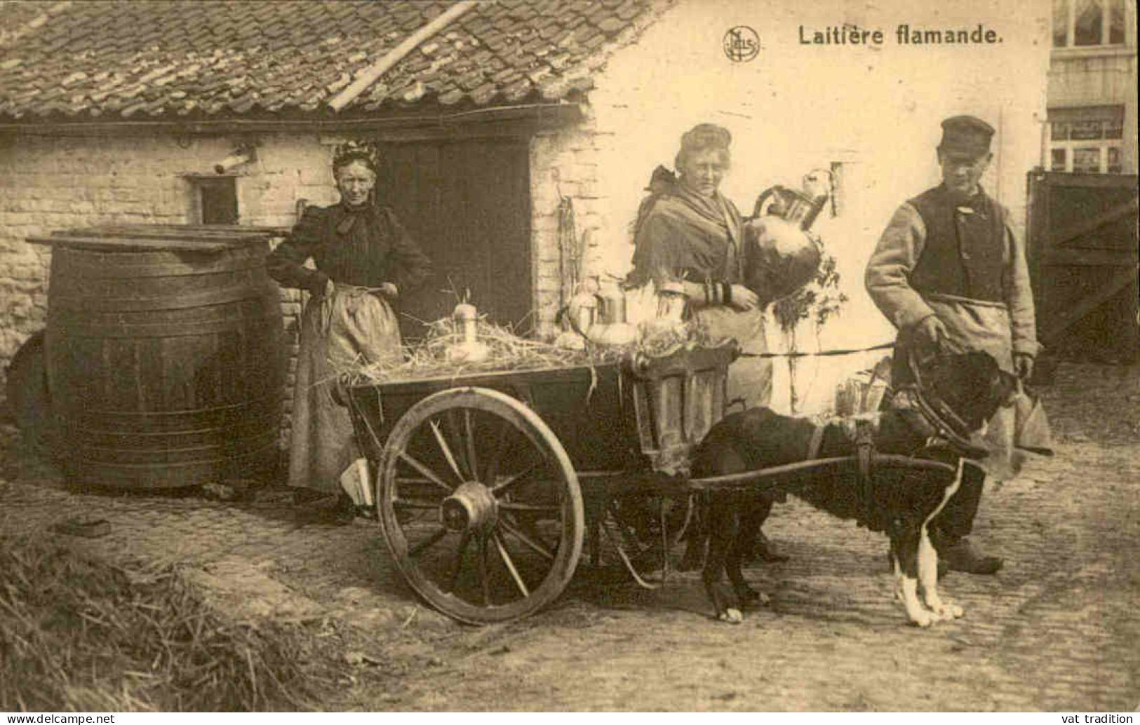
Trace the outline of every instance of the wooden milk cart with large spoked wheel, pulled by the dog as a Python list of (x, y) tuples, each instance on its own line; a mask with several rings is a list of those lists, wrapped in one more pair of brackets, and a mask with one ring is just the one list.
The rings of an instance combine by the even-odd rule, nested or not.
[[(728, 343), (345, 386), (353, 430), (376, 471), (381, 530), (408, 584), (472, 624), (516, 619), (552, 602), (587, 531), (596, 556), (608, 518), (636, 536), (646, 511), (665, 515), (662, 484), (676, 490), (691, 448), (723, 416), (736, 355)], [(661, 505), (637, 505), (650, 499)], [(674, 503), (687, 511), (687, 499)], [(665, 523), (652, 530), (667, 548)]]

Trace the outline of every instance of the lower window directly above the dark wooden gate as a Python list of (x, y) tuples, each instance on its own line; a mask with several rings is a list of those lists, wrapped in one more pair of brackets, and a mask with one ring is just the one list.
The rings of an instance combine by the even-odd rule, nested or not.
[(1049, 109), (1049, 170), (1123, 173), (1124, 107)]

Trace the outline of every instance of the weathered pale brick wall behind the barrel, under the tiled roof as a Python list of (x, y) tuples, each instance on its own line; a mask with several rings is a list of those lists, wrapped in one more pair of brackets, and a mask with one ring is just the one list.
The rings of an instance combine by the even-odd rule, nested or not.
[[(27, 337), (47, 321), (50, 249), (28, 236), (100, 223), (182, 223), (193, 194), (184, 174), (210, 172), (241, 140), (235, 137), (3, 137), (0, 139), (0, 375)], [(335, 201), (329, 141), (314, 135), (255, 139), (258, 158), (239, 169), (241, 222), (290, 226), (299, 198)], [(290, 344), (286, 421), (301, 293), (282, 291)], [(2, 383), (3, 378), (0, 378)], [(0, 396), (2, 396), (0, 388)]]

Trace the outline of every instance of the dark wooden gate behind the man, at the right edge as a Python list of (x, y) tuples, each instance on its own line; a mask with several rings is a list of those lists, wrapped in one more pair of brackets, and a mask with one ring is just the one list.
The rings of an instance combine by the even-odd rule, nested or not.
[(1029, 270), (1047, 349), (1135, 358), (1137, 211), (1135, 176), (1029, 173)]

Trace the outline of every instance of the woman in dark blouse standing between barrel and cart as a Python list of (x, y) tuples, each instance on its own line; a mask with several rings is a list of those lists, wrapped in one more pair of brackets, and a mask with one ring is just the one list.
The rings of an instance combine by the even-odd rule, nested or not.
[[(431, 272), (396, 214), (375, 202), (370, 145), (337, 147), (333, 176), (341, 202), (307, 209), (268, 261), (282, 286), (312, 295), (301, 313), (290, 486), (326, 494), (340, 490), (340, 474), (360, 455), (348, 410), (332, 397), (336, 376), (400, 355), (392, 306)], [(310, 258), (315, 269), (304, 266)]]

